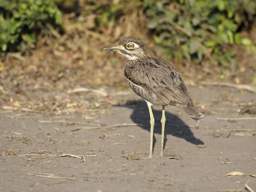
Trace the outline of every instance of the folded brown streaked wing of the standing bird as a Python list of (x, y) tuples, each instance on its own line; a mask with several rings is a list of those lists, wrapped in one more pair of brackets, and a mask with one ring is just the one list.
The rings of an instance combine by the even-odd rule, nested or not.
[(166, 61), (157, 58), (140, 60), (126, 79), (137, 95), (154, 104), (176, 107), (192, 105), (184, 81)]

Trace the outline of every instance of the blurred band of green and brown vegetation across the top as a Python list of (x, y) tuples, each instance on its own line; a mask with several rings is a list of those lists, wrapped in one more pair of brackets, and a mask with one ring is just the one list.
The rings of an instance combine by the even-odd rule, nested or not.
[[(242, 30), (250, 30), (256, 15), (255, 0), (2, 0), (0, 51), (33, 47), (40, 27), (47, 23), (62, 24), (60, 10), (64, 14), (75, 12), (72, 23), (79, 23), (80, 16), (87, 18), (90, 22), (84, 28), (99, 33), (108, 32), (104, 27), (120, 25), (121, 18), (133, 12), (137, 12), (135, 19), (143, 14), (148, 29), (136, 29), (135, 20), (131, 20), (137, 37), (140, 38), (140, 31), (147, 31), (149, 39), (154, 39), (156, 44), (153, 48), (156, 55), (180, 62), (189, 60), (229, 67), (236, 55), (232, 45), (256, 50), (251, 39), (241, 35)], [(126, 34), (122, 31), (126, 29), (120, 27), (125, 26), (116, 27), (113, 39), (119, 40)]]

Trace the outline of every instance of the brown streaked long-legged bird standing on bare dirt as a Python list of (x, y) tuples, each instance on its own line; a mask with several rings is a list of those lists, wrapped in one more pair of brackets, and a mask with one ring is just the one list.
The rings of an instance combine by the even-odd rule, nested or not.
[(203, 119), (203, 114), (193, 105), (189, 91), (175, 67), (169, 62), (149, 57), (148, 49), (140, 39), (125, 37), (118, 45), (106, 47), (103, 50), (116, 51), (128, 59), (124, 70), (125, 79), (134, 93), (142, 97), (148, 105), (150, 115), (149, 158), (152, 158), (153, 155), (154, 132), (154, 115), (151, 106), (162, 106), (160, 157), (163, 157), (165, 106), (172, 105), (180, 108), (195, 120)]

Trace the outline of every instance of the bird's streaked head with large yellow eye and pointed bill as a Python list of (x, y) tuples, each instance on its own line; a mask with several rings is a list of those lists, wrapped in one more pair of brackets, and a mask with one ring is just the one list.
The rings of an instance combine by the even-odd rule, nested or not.
[(106, 47), (105, 51), (116, 51), (124, 55), (128, 60), (140, 59), (148, 56), (146, 45), (137, 38), (125, 37), (118, 45)]

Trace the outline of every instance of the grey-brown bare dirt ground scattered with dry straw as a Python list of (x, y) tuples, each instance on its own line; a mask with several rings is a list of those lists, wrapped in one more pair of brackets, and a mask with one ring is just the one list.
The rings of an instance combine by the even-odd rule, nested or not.
[[(229, 87), (188, 88), (204, 119), (197, 125), (181, 110), (166, 107), (165, 156), (159, 157), (161, 107), (154, 106), (152, 159), (147, 159), (148, 108), (130, 89), (105, 89), (111, 95), (105, 102), (101, 99), (106, 96), (74, 93), (81, 101), (90, 95), (92, 102), (104, 105), (61, 115), (2, 105), (0, 191), (245, 192), (248, 180), (255, 191), (256, 120), (217, 119), (255, 116), (239, 113), (255, 104), (255, 93)], [(40, 96), (50, 97), (33, 94), (30, 99), (35, 102)], [(223, 177), (230, 172), (248, 175)]]

